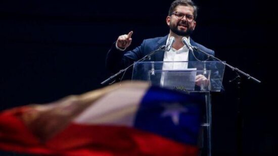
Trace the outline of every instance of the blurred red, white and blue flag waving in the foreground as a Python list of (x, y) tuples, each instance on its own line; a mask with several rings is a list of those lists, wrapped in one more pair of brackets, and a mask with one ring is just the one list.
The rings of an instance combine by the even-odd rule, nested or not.
[(124, 82), (0, 113), (0, 149), (55, 155), (198, 155), (198, 98)]

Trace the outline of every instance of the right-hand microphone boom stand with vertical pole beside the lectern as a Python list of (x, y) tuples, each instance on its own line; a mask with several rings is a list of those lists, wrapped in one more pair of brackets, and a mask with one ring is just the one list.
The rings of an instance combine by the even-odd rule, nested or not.
[[(190, 45), (191, 46), (191, 45)], [(207, 54), (205, 51), (201, 50), (199, 47), (196, 46), (191, 46), (194, 50), (201, 52), (205, 55), (208, 56), (208, 58), (213, 58), (215, 60), (218, 60), (220, 62), (222, 62), (220, 59)], [(242, 106), (241, 106), (241, 76), (239, 75), (239, 73), (243, 74), (244, 76), (247, 77), (247, 79), (252, 79), (253, 81), (257, 82), (257, 83), (261, 83), (261, 81), (259, 81), (258, 79), (250, 76), (249, 74), (246, 74), (245, 72), (239, 70), (238, 68), (235, 68), (233, 66), (230, 66), (227, 63), (222, 62), (225, 66), (229, 67), (232, 71), (235, 71), (235, 73), (237, 74), (236, 78), (234, 78), (233, 80), (230, 80), (229, 82), (236, 82), (237, 85), (237, 90), (238, 90), (238, 98), (237, 98), (237, 155), (243, 155), (243, 113), (242, 113)]]

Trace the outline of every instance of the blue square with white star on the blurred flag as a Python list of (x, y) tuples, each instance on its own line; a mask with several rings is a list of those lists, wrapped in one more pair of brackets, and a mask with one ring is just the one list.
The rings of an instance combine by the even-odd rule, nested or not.
[(141, 101), (134, 127), (196, 145), (202, 104), (204, 101), (198, 96), (151, 87)]

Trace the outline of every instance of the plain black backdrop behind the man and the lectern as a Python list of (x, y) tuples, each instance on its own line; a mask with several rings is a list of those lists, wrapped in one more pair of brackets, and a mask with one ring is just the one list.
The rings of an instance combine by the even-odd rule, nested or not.
[[(103, 87), (105, 57), (121, 34), (132, 47), (165, 36), (172, 1), (1, 1), (0, 110), (46, 103)], [(216, 57), (262, 81), (242, 77), (245, 155), (274, 155), (276, 39), (274, 5), (267, 1), (195, 1), (192, 38)], [(273, 38), (273, 39), (272, 39)], [(226, 68), (224, 92), (213, 93), (214, 155), (236, 154), (236, 75)]]

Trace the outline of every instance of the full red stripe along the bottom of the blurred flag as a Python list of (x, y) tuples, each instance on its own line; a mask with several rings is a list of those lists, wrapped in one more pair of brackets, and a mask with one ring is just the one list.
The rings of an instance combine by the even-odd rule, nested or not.
[[(43, 127), (42, 127), (43, 128)], [(0, 148), (58, 155), (197, 155), (198, 148), (128, 127), (71, 124), (41, 142), (11, 112), (0, 114)]]

